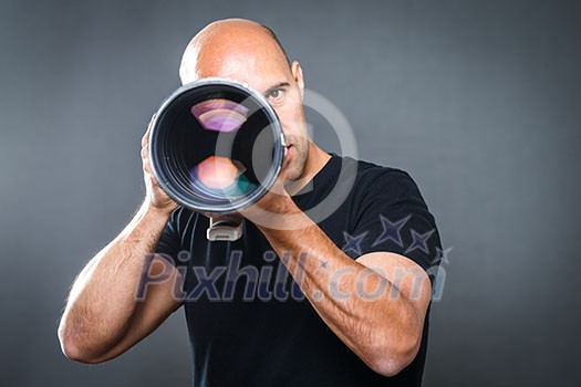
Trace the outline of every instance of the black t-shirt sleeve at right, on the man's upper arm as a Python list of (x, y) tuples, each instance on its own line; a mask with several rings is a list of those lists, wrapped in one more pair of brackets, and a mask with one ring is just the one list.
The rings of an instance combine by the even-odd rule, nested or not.
[(370, 252), (394, 252), (413, 260), (432, 278), (442, 244), (435, 219), (412, 177), (386, 169), (363, 180), (355, 226), (352, 234), (344, 236), (343, 251), (354, 259)]

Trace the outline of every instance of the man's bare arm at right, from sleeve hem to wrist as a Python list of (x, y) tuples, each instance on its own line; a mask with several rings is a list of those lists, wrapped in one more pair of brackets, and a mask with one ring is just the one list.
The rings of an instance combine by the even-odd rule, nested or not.
[[(425, 271), (396, 253), (353, 260), (301, 212), (288, 195), (277, 199), (281, 227), (259, 229), (326, 325), (373, 370), (393, 376), (416, 356), (432, 286)], [(250, 215), (250, 212), (248, 212)], [(284, 215), (301, 228), (284, 230)], [(255, 215), (256, 216), (256, 215)], [(252, 215), (250, 215), (252, 217)]]

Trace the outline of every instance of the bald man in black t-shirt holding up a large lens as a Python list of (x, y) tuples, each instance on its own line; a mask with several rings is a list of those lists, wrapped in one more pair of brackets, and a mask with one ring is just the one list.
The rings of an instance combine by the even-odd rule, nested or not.
[[(421, 385), (439, 239), (415, 184), (350, 160), (353, 188), (315, 223), (308, 210), (349, 163), (309, 138), (299, 63), (267, 28), (224, 20), (184, 53), (184, 83), (209, 76), (272, 105), (287, 144), (280, 179), (242, 211), (242, 239), (209, 242), (207, 217), (178, 208), (152, 175), (146, 133), (145, 201), (74, 282), (59, 328), (65, 355), (114, 358), (184, 305), (196, 386)], [(164, 281), (144, 290), (144, 278)]]

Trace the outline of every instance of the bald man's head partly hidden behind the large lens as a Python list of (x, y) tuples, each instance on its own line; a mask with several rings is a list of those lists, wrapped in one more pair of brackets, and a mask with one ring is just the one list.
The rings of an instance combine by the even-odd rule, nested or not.
[(243, 19), (208, 24), (187, 45), (179, 76), (184, 84), (207, 77), (229, 79), (262, 94), (284, 134), (281, 179), (302, 181), (297, 189), (330, 158), (309, 135), (302, 69), (297, 61), (289, 63), (277, 36), (264, 25)]

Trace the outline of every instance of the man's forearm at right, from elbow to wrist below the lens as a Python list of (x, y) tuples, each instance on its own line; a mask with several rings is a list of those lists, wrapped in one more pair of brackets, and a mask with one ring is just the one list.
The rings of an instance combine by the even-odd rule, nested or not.
[(259, 228), (329, 327), (373, 369), (397, 373), (416, 354), (424, 316), (396, 285), (302, 216), (299, 230)]

